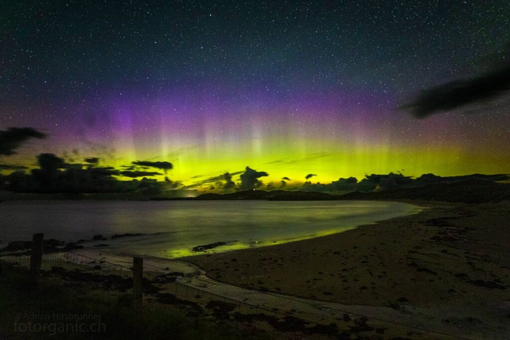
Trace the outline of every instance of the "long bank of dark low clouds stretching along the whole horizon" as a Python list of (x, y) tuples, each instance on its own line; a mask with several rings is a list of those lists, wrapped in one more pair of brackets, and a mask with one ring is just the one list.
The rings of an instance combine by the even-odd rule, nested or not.
[[(0, 149), (8, 158), (15, 150), (31, 138), (45, 138), (46, 135), (33, 128), (9, 128), (1, 132)], [(7, 137), (13, 137), (7, 140)], [(246, 166), (244, 171), (223, 172), (216, 176), (198, 180), (192, 185), (184, 186), (180, 181), (171, 180), (165, 175), (164, 180), (158, 181), (150, 177), (162, 176), (173, 169), (173, 165), (167, 161), (133, 161), (121, 165), (118, 169), (103, 163), (97, 156), (88, 156), (82, 163), (68, 162), (54, 153), (40, 153), (36, 157), (38, 168), (32, 168), (19, 164), (0, 164), (0, 187), (3, 190), (21, 193), (130, 193), (139, 195), (166, 195), (166, 196), (189, 196), (190, 193), (213, 191), (229, 193), (242, 190), (302, 190), (319, 191), (327, 193), (343, 193), (348, 191), (380, 191), (398, 188), (421, 187), (438, 182), (452, 182), (462, 179), (479, 178), (493, 181), (509, 180), (507, 174), (473, 174), (466, 176), (442, 177), (434, 174), (423, 174), (417, 178), (405, 176), (400, 172), (388, 174), (365, 175), (358, 180), (355, 177), (339, 178), (328, 184), (321, 182), (313, 183), (310, 179), (317, 176), (309, 173), (304, 176), (305, 182), (291, 181), (287, 176), (281, 177), (280, 181), (264, 184), (263, 177), (269, 174)], [(159, 169), (163, 172), (148, 171)], [(2, 174), (6, 171), (10, 174)], [(239, 181), (234, 176), (239, 175)], [(131, 180), (122, 180), (122, 177)], [(143, 177), (139, 179), (140, 177)], [(200, 177), (200, 176), (198, 176)]]

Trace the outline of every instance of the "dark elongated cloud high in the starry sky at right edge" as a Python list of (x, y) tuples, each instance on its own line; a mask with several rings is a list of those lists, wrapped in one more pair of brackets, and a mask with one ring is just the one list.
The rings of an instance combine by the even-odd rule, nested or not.
[(504, 65), (485, 74), (442, 84), (422, 91), (403, 109), (416, 118), (450, 111), (472, 103), (484, 103), (510, 89), (510, 66)]

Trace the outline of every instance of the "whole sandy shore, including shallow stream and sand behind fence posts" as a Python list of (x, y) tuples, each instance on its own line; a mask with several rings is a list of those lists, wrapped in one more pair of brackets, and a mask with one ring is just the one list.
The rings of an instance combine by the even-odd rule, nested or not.
[[(507, 339), (508, 203), (414, 204), (421, 212), (314, 239), (144, 256), (145, 302), (184, 312), (192, 304), (204, 318), (276, 338)], [(44, 275), (123, 292), (121, 277), (105, 281), (113, 279), (100, 272), (115, 277), (120, 266), (129, 275), (132, 257), (124, 255), (109, 248), (48, 253)]]

